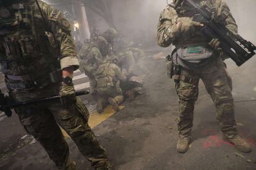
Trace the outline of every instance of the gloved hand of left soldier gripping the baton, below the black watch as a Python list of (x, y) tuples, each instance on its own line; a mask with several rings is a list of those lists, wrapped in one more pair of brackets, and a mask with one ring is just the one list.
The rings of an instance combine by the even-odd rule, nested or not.
[(65, 83), (61, 83), (61, 89), (59, 91), (59, 97), (61, 99), (62, 105), (68, 107), (77, 102), (75, 97), (75, 88), (74, 84), (67, 85)]

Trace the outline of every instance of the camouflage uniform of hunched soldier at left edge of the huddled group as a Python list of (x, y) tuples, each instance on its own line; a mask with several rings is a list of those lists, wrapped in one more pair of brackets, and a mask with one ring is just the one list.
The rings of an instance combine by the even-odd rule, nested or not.
[(97, 82), (95, 79), (96, 69), (103, 62), (100, 49), (93, 42), (84, 44), (79, 51), (80, 69), (85, 72), (90, 81), (90, 94), (96, 94)]

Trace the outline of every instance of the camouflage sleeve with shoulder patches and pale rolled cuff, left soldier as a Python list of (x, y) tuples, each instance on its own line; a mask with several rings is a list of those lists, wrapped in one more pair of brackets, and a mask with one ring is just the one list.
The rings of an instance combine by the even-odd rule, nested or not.
[(51, 32), (57, 41), (59, 54), (61, 57), (61, 69), (74, 67), (74, 70), (79, 68), (79, 61), (75, 52), (75, 45), (71, 38), (70, 23), (64, 18), (59, 10), (53, 9), (43, 1), (40, 2), (40, 7), (45, 14)]

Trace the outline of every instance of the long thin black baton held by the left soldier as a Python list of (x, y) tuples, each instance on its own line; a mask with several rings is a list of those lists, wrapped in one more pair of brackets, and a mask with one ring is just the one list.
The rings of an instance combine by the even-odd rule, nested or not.
[[(89, 94), (89, 91), (79, 91), (79, 92), (75, 92), (75, 95), (80, 96), (80, 95), (87, 95)], [(58, 100), (59, 99), (59, 95), (53, 96), (53, 97), (46, 97), (43, 99), (35, 99), (35, 100), (28, 100), (25, 102), (11, 102), (11, 99), (9, 99), (9, 97), (7, 97), (6, 95), (2, 94), (2, 92), (0, 91), (0, 110), (4, 111), (4, 113), (6, 113), (7, 117), (11, 117), (12, 116), (12, 111), (11, 108), (16, 108), (16, 107), (22, 107), (25, 105), (32, 105), (35, 103), (41, 103), (41, 102), (50, 102), (53, 100)]]

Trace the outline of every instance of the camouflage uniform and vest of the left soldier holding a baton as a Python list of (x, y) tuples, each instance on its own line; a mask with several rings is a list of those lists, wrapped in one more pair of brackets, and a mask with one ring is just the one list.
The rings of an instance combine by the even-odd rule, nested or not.
[[(10, 97), (20, 102), (58, 95), (61, 70), (79, 68), (69, 22), (43, 1), (39, 4), (46, 23), (35, 1), (0, 2), (0, 63)], [(95, 169), (109, 168), (105, 149), (88, 126), (89, 113), (79, 98), (69, 107), (56, 101), (15, 111), (28, 134), (40, 142), (59, 169), (72, 168), (69, 147), (59, 126)]]

